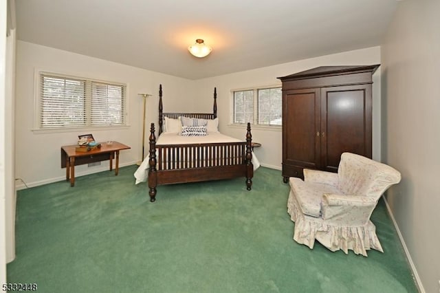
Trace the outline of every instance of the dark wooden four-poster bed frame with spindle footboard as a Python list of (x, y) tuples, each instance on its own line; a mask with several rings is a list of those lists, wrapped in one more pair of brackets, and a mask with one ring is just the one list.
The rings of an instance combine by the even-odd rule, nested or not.
[[(214, 88), (213, 113), (163, 113), (162, 85), (160, 85), (159, 135), (162, 133), (164, 117), (175, 119), (179, 116), (203, 119), (217, 118), (217, 89)], [(245, 177), (247, 189), (251, 190), (254, 166), (252, 165), (250, 123), (248, 123), (245, 142), (156, 144), (154, 123), (151, 123), (149, 140), (148, 188), (150, 189), (150, 202), (155, 202), (156, 187), (164, 184)], [(172, 160), (171, 158), (174, 157), (176, 159)]]

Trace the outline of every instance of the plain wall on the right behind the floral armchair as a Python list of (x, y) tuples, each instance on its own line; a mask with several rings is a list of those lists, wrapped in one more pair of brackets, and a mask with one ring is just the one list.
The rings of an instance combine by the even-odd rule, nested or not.
[(440, 285), (440, 1), (401, 1), (382, 46), (383, 155), (401, 172), (388, 192), (426, 292)]

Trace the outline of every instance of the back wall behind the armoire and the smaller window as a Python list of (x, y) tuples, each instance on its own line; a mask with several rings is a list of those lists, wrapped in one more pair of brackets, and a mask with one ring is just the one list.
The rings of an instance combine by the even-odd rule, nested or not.
[[(373, 65), (380, 63), (380, 47), (371, 47), (362, 50), (343, 52), (310, 58), (302, 61), (283, 63), (270, 67), (263, 67), (245, 72), (236, 72), (212, 78), (204, 78), (195, 82), (197, 98), (199, 100), (199, 111), (210, 111), (212, 99), (206, 93), (212, 92), (217, 87), (217, 105), (219, 116), (219, 128), (221, 132), (236, 138), (245, 138), (244, 127), (233, 127), (230, 124), (230, 107), (232, 89), (243, 89), (249, 87), (261, 87), (267, 85), (281, 85), (277, 79), (311, 69), (327, 65)], [(380, 71), (381, 67), (373, 75), (373, 158), (381, 159), (380, 151)], [(263, 166), (281, 169), (282, 162), (282, 135), (281, 129), (267, 130), (267, 128), (252, 128), (252, 141), (261, 142), (262, 146), (255, 149)]]

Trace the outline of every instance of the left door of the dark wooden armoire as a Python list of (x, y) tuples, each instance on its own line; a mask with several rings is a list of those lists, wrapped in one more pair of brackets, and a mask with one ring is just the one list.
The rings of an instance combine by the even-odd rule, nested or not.
[(319, 169), (320, 89), (283, 93), (283, 176), (303, 177), (303, 168)]

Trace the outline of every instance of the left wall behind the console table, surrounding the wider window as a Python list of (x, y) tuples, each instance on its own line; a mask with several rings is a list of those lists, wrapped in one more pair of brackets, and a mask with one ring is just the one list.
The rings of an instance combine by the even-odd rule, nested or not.
[[(32, 131), (36, 70), (126, 83), (130, 126), (115, 130), (82, 129), (56, 133)], [(76, 144), (78, 135), (86, 133), (92, 133), (100, 142), (115, 140), (131, 146), (130, 150), (121, 151), (120, 166), (135, 164), (142, 156), (143, 105), (142, 97), (137, 94), (153, 94), (147, 98), (146, 105), (145, 145), (148, 146), (149, 125), (151, 122), (157, 124), (159, 83), (164, 87), (164, 107), (167, 111), (192, 110), (195, 100), (192, 80), (17, 41), (17, 178), (21, 178), (28, 186), (65, 180), (65, 169), (61, 169), (60, 148), (63, 145)], [(147, 153), (148, 149), (145, 151)], [(108, 167), (108, 162), (90, 168), (87, 165), (76, 166), (75, 173), (84, 175), (107, 170)], [(17, 181), (17, 184), (21, 182)], [(23, 184), (19, 187), (22, 188)]]

